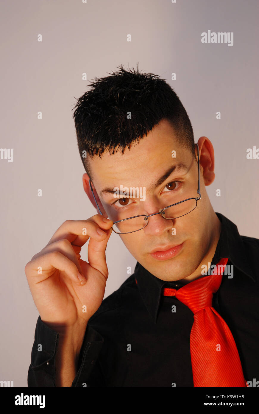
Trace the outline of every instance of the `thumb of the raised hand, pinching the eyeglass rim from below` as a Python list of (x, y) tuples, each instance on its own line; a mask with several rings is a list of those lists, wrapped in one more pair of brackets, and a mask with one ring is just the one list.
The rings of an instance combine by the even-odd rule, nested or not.
[(108, 268), (106, 263), (106, 256), (105, 250), (108, 243), (108, 239), (110, 238), (113, 229), (110, 228), (108, 230), (104, 230), (106, 232), (107, 237), (102, 241), (96, 241), (94, 238), (90, 237), (88, 243), (88, 263), (91, 267), (98, 270), (103, 274), (103, 276), (107, 279), (108, 277)]

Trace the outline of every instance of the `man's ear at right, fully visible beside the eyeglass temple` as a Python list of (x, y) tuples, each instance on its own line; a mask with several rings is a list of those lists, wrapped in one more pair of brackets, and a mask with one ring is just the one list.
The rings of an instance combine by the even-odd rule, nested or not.
[(214, 173), (214, 148), (207, 137), (198, 140), (200, 166), (205, 185), (210, 185), (215, 179)]

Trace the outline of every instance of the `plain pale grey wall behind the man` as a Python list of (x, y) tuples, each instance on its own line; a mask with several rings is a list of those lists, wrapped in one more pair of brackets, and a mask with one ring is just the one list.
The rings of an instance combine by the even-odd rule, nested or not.
[[(195, 142), (205, 135), (213, 143), (216, 179), (206, 189), (214, 210), (241, 234), (258, 237), (259, 160), (248, 160), (246, 150), (259, 147), (259, 6), (257, 0), (24, 0), (0, 7), (0, 147), (14, 148), (12, 163), (0, 160), (0, 380), (26, 387), (38, 311), (24, 266), (63, 221), (96, 214), (83, 190), (72, 119), (74, 97), (89, 84), (82, 73), (91, 80), (139, 62), (139, 70), (166, 79), (186, 108)], [(233, 32), (233, 46), (202, 44), (208, 30)], [(115, 233), (106, 256), (105, 297), (136, 263)]]

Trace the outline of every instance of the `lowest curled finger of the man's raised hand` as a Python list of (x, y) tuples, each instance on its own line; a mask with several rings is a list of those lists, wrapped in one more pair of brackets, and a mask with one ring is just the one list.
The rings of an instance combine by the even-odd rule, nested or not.
[[(41, 274), (38, 274), (39, 267), (43, 269), (43, 273)], [(28, 282), (35, 284), (48, 279), (56, 270), (64, 272), (72, 282), (81, 285), (77, 266), (60, 252), (53, 251), (46, 253), (43, 256), (31, 260), (25, 266), (25, 274)], [(85, 280), (83, 283), (85, 283)]]

